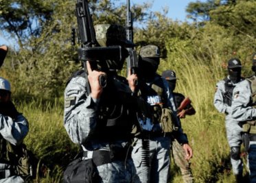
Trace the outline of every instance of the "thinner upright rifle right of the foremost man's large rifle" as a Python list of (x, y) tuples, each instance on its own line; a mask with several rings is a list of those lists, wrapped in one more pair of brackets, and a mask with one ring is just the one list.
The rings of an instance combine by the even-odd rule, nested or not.
[[(126, 38), (133, 42), (133, 27), (132, 27), (132, 12), (130, 11), (130, 0), (127, 0), (126, 12)], [(127, 73), (131, 69), (131, 74), (136, 73), (138, 68), (138, 58), (136, 51), (133, 48), (128, 48), (129, 56), (127, 58)]]

